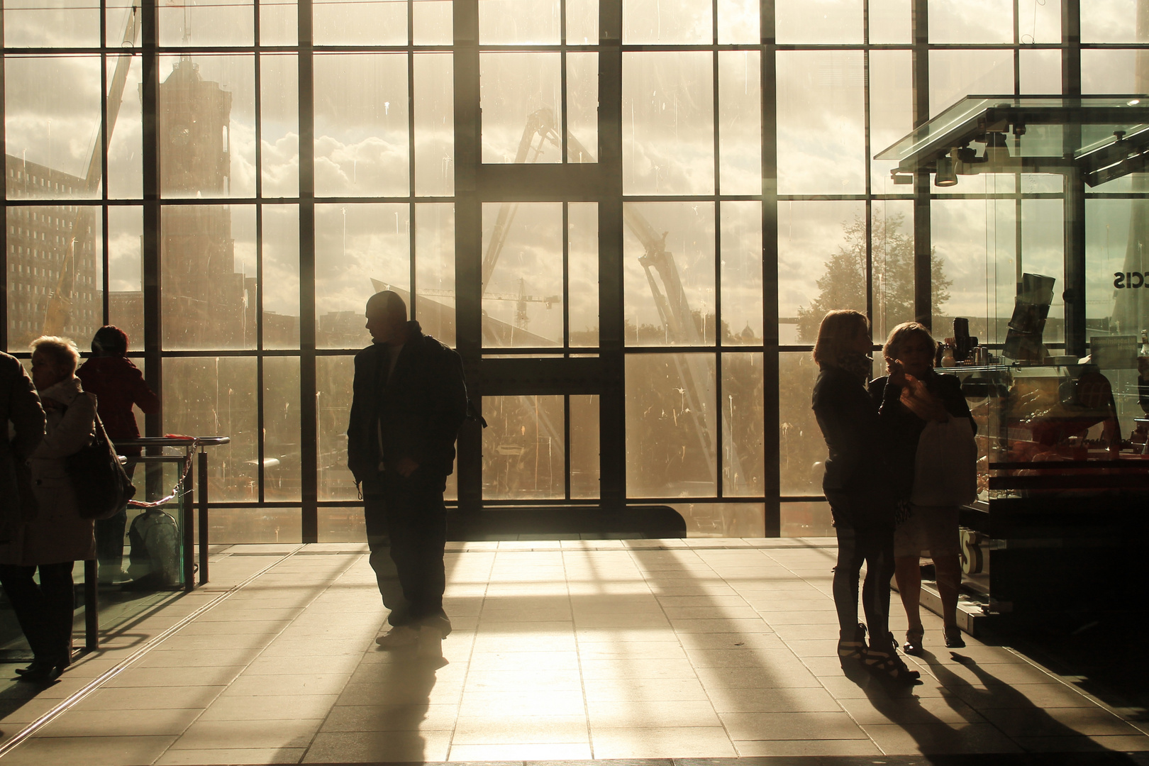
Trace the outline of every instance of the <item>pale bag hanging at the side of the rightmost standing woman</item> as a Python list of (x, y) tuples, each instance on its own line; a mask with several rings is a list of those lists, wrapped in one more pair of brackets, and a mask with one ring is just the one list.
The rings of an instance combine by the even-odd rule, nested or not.
[(965, 505), (978, 497), (978, 444), (969, 418), (930, 420), (913, 461), (915, 505)]

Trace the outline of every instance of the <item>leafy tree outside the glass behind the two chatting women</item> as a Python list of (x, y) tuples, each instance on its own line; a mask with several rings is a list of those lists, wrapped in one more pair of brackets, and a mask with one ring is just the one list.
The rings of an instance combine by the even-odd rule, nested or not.
[[(874, 335), (885, 336), (902, 322), (915, 318), (913, 312), (913, 237), (903, 231), (905, 217), (895, 214), (873, 218), (873, 326)], [(830, 256), (826, 273), (816, 283), (818, 297), (809, 307), (799, 307), (797, 336), (812, 343), (818, 336), (818, 325), (826, 311), (855, 309), (865, 311), (865, 222), (861, 216), (842, 225), (846, 243)], [(941, 258), (931, 250), (932, 312), (936, 314), (949, 301), (953, 280), (946, 277)]]

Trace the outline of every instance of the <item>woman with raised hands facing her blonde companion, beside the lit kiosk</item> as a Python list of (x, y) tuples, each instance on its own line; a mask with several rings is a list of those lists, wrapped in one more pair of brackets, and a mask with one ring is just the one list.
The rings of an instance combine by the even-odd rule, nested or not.
[(897, 593), (909, 619), (905, 651), (921, 653), (921, 571), (920, 556), (930, 556), (938, 577), (941, 596), (946, 645), (965, 645), (957, 627), (957, 590), (962, 582), (958, 540), (958, 508), (910, 505), (913, 492), (915, 461), (918, 440), (926, 423), (949, 418), (969, 418), (977, 433), (977, 423), (962, 394), (957, 376), (939, 374), (933, 369), (938, 343), (925, 325), (905, 322), (889, 332), (882, 356), (889, 376), (870, 384), (870, 396), (879, 407), (879, 418), (886, 427), (889, 464), (894, 472), (894, 489), (910, 509), (910, 516), (894, 533), (895, 577)]

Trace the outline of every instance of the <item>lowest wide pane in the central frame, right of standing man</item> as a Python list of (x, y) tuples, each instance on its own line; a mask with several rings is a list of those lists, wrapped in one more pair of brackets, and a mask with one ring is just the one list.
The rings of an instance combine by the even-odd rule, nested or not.
[(484, 500), (561, 500), (565, 426), (562, 396), (484, 396)]

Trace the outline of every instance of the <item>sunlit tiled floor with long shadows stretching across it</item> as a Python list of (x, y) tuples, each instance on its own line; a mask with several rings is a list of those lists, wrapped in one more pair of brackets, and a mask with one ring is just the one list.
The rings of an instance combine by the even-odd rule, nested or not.
[[(208, 587), (117, 628), (59, 683), (0, 688), (0, 705), (11, 711), (0, 743), (23, 737), (2, 760), (1149, 751), (1144, 722), (1010, 649), (971, 640), (951, 655), (930, 614), (928, 655), (911, 659), (923, 684), (899, 691), (847, 679), (834, 657), (832, 540), (453, 547), (455, 632), (441, 666), (377, 650), (385, 611), (363, 547), (236, 547), (215, 558)], [(895, 596), (899, 630), (900, 612)]]

